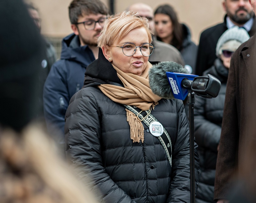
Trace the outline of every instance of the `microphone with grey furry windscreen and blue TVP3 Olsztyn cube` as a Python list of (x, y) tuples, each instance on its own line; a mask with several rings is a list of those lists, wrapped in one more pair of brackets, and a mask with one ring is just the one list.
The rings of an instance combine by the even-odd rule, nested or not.
[[(182, 99), (188, 95), (188, 90), (182, 88), (182, 80), (193, 80), (197, 75), (181, 64), (173, 61), (160, 62), (149, 69), (149, 86), (154, 94), (164, 99)], [(170, 88), (171, 87), (171, 88)]]

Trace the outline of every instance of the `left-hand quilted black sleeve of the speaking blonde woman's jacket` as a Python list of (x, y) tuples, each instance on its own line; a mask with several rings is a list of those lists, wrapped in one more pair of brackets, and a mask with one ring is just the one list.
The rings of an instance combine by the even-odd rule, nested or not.
[(110, 179), (103, 167), (100, 119), (97, 101), (87, 88), (72, 97), (66, 112), (66, 157), (74, 166), (75, 173), (90, 185), (94, 193), (100, 190), (102, 195), (97, 193), (100, 202), (135, 203)]

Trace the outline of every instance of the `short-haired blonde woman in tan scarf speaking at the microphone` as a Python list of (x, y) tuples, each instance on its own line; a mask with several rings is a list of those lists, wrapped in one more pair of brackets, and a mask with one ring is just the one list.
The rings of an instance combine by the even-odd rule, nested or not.
[[(188, 119), (181, 100), (161, 99), (149, 87), (151, 35), (147, 20), (132, 11), (109, 17), (99, 58), (66, 112), (66, 157), (82, 170), (74, 171), (80, 179), (93, 180), (100, 202), (190, 202)], [(144, 124), (151, 115), (165, 128), (171, 154), (154, 136), (155, 124)], [(197, 151), (195, 157), (197, 183)]]

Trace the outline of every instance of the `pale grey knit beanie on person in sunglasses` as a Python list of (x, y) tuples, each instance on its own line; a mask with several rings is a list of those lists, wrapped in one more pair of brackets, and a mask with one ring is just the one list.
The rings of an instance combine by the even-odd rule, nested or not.
[[(250, 36), (244, 28), (239, 28), (238, 26), (234, 26), (228, 30), (226, 30), (219, 38), (217, 46), (216, 46), (216, 56), (218, 57), (222, 52), (223, 45), (228, 45), (235, 47), (235, 50), (242, 43), (246, 42)], [(232, 42), (231, 42), (232, 41)], [(230, 42), (226, 44), (227, 42)], [(227, 47), (227, 46), (225, 46)], [(235, 51), (231, 50), (231, 51)]]

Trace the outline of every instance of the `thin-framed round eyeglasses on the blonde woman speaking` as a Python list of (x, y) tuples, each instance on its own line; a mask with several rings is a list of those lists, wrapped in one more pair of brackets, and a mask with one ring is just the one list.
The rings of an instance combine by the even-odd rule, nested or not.
[[(113, 45), (109, 45), (109, 46), (113, 46)], [(114, 47), (120, 47), (123, 50), (123, 53), (125, 56), (132, 56), (135, 54), (136, 49), (139, 47), (140, 51), (142, 53), (143, 56), (150, 56), (153, 51), (154, 51), (154, 46), (153, 44), (150, 43), (145, 43), (142, 44), (141, 46), (136, 46), (133, 43), (126, 43), (123, 46), (114, 46)]]

